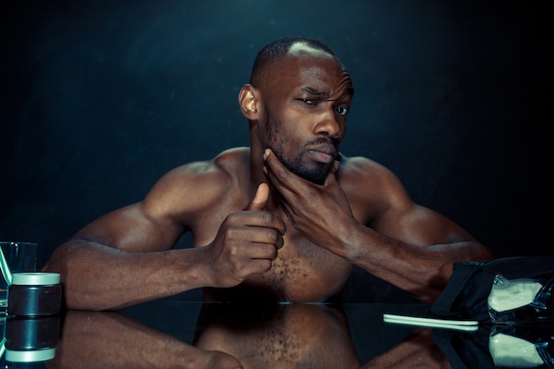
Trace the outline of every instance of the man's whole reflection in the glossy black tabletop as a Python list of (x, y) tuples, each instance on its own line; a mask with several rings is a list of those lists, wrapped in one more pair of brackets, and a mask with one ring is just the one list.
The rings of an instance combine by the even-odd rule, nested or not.
[[(248, 310), (248, 306), (233, 305), (204, 306), (196, 327), (199, 334), (195, 346), (117, 312), (67, 311), (56, 357), (46, 365), (50, 369), (106, 366), (358, 369), (412, 368), (417, 362), (419, 367), (450, 367), (428, 329), (414, 331), (408, 339), (395, 342), (394, 347), (360, 366), (346, 317), (334, 305), (266, 306), (273, 311), (259, 309), (260, 306), (256, 309), (250, 305), (252, 309)], [(390, 330), (388, 333), (391, 334)]]

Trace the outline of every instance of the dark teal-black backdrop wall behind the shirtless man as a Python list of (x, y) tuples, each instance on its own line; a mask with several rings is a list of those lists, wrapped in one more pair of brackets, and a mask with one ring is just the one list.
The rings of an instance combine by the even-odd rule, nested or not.
[(389, 166), (497, 256), (551, 253), (552, 27), (539, 2), (1, 7), (0, 239), (39, 242), (41, 264), (174, 166), (248, 145), (236, 94), (284, 35), (319, 37), (350, 69), (345, 155)]

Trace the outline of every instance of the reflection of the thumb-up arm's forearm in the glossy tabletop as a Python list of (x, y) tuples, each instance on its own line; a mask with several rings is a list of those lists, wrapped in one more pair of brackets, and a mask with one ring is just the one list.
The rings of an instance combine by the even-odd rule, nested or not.
[(67, 311), (56, 357), (45, 365), (49, 369), (242, 368), (225, 352), (197, 349), (113, 311)]

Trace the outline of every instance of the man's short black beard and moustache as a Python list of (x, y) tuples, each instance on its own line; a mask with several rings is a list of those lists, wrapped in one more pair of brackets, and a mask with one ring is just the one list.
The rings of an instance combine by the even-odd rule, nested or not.
[(304, 178), (306, 181), (322, 185), (327, 179), (327, 175), (331, 170), (330, 165), (324, 163), (314, 162), (314, 166), (309, 168), (302, 162), (302, 153), (305, 147), (309, 147), (314, 144), (328, 143), (330, 140), (327, 137), (321, 137), (320, 139), (304, 144), (303, 150), (300, 150), (296, 158), (289, 160), (285, 158), (283, 153), (283, 145), (287, 141), (283, 135), (279, 134), (279, 127), (281, 122), (278, 119), (273, 119), (268, 114), (265, 121), (265, 127), (268, 132), (268, 146), (273, 151), (275, 156), (281, 161), (290, 172), (295, 173), (297, 176)]

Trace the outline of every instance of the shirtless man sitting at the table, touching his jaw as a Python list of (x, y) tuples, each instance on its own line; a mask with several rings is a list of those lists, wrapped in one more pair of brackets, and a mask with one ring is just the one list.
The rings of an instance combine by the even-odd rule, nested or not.
[[(318, 302), (342, 290), (354, 265), (433, 301), (453, 262), (489, 251), (413, 204), (386, 168), (339, 154), (352, 94), (326, 45), (265, 46), (238, 96), (250, 148), (174, 169), (142, 202), (60, 246), (45, 269), (62, 274), (67, 306), (108, 309), (236, 286)], [(196, 247), (173, 250), (186, 232)]]

